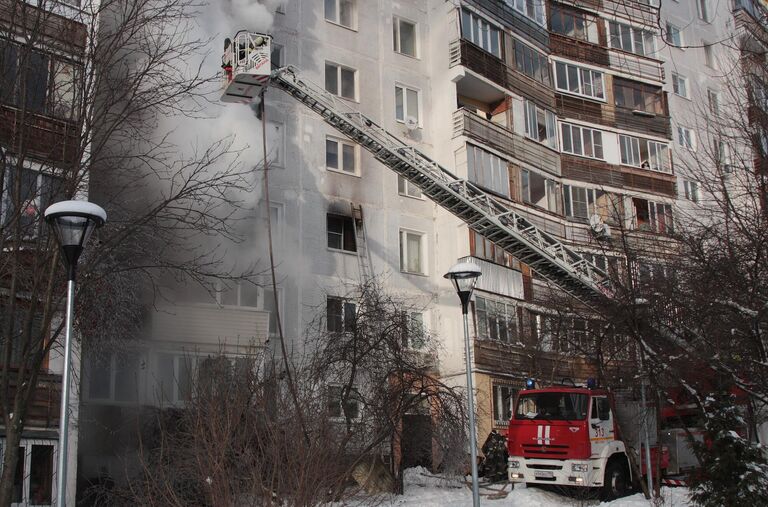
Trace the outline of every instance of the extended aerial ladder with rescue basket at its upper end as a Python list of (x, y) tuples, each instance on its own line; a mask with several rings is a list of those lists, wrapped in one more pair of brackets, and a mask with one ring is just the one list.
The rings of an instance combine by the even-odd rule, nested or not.
[(249, 103), (258, 99), (266, 87), (281, 89), (546, 280), (588, 305), (604, 303), (611, 297), (609, 278), (603, 270), (536, 227), (517, 206), (456, 177), (346, 101), (303, 79), (295, 67), (272, 69), (270, 53), (271, 37), (266, 34), (240, 31), (234, 39), (225, 41), (223, 102)]

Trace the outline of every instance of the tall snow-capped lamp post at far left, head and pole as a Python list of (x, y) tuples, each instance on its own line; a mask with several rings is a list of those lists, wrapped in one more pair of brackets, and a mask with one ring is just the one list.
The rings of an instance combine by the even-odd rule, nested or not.
[(67, 268), (67, 315), (64, 334), (64, 373), (59, 417), (59, 463), (56, 471), (56, 506), (66, 505), (67, 442), (69, 432), (69, 377), (72, 342), (72, 308), (75, 298), (77, 261), (91, 233), (107, 221), (106, 212), (88, 201), (61, 201), (45, 210), (45, 221), (53, 230), (61, 247), (61, 257)]

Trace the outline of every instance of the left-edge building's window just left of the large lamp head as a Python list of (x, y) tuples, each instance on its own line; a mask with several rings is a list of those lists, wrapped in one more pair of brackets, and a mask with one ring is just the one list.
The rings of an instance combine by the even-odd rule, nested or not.
[(43, 227), (42, 211), (61, 194), (63, 181), (57, 176), (31, 168), (21, 170), (19, 195), (16, 192), (18, 179), (15, 164), (6, 164), (3, 193), (0, 194), (0, 224), (8, 224), (20, 215), (19, 226), (22, 237), (33, 239)]

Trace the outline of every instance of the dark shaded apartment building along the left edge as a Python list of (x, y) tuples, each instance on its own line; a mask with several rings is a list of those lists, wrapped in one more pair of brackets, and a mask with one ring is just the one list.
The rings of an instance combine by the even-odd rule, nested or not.
[[(59, 199), (62, 175), (77, 166), (79, 153), (75, 83), (86, 64), (88, 26), (72, 3), (0, 2), (0, 376), (7, 386), (0, 404), (0, 470), (11, 421), (23, 427), (10, 476), (13, 505), (51, 505), (57, 494), (63, 358), (58, 346), (35, 351), (44, 350), (50, 327), (60, 321), (51, 319), (56, 308), (46, 306), (38, 285), (59, 269), (46, 248), (42, 211)], [(76, 392), (72, 398), (76, 417)], [(73, 428), (69, 441), (74, 503)]]

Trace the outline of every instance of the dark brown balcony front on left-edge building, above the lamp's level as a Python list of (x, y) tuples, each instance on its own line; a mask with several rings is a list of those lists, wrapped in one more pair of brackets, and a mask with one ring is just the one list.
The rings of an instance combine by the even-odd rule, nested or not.
[(13, 149), (23, 139), (29, 155), (74, 164), (79, 157), (79, 137), (76, 122), (0, 105), (0, 144), (4, 146)]

